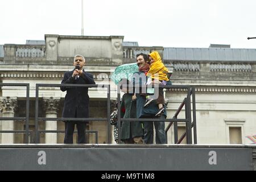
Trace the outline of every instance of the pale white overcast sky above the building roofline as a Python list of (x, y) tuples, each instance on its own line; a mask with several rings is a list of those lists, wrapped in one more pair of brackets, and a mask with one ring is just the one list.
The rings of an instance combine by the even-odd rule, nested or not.
[[(255, 0), (84, 0), (84, 35), (139, 46), (256, 48)], [(81, 0), (1, 0), (0, 44), (81, 35)]]

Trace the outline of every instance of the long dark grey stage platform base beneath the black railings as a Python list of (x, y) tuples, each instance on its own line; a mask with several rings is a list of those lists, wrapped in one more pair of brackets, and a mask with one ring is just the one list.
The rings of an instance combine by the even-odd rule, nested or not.
[(256, 170), (256, 145), (0, 144), (5, 170)]

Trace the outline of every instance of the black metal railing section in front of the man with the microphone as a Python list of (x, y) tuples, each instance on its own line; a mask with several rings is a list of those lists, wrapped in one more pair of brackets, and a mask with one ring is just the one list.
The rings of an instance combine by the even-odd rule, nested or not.
[[(92, 87), (92, 88), (107, 88), (108, 89), (108, 101), (107, 101), (107, 118), (43, 118), (38, 117), (38, 98), (39, 87)], [(36, 104), (35, 104), (35, 143), (39, 143), (39, 130), (38, 121), (107, 121), (108, 122), (108, 143), (110, 143), (110, 85), (97, 85), (97, 84), (36, 84)], [(86, 132), (86, 131), (85, 131)], [(47, 133), (47, 130), (40, 130), (40, 133)], [(58, 130), (51, 130), (51, 133), (59, 133)], [(62, 132), (61, 132), (62, 133)], [(98, 135), (97, 135), (98, 136)]]

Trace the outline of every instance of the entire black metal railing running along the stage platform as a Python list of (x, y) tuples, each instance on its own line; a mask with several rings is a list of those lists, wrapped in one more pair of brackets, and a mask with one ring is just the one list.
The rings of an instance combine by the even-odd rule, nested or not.
[[(5, 120), (19, 120), (24, 121), (26, 120), (26, 130), (5, 130), (0, 131), (0, 133), (26, 133), (26, 143), (28, 143), (28, 134), (30, 137), (32, 136), (32, 131), (28, 130), (29, 124), (29, 84), (5, 84), (0, 83), (0, 86), (26, 86), (27, 87), (27, 94), (26, 94), (26, 117), (1, 117), (0, 121)], [(107, 118), (46, 118), (46, 117), (39, 117), (39, 87), (60, 87), (60, 86), (68, 86), (68, 87), (92, 87), (92, 88), (107, 88), (108, 89), (108, 100), (107, 100)], [(167, 141), (167, 132), (171, 128), (172, 124), (174, 123), (174, 140), (176, 144), (181, 143), (181, 141), (187, 136), (187, 143), (192, 144), (192, 127), (193, 127), (193, 143), (197, 143), (197, 132), (196, 132), (196, 102), (195, 102), (195, 88), (189, 85), (171, 85), (171, 86), (161, 86), (162, 88), (166, 89), (185, 89), (187, 90), (187, 96), (184, 98), (183, 102), (181, 102), (179, 108), (176, 110), (174, 117), (171, 119), (157, 119), (157, 118), (121, 118), (120, 112), (118, 112), (118, 131), (121, 131), (121, 121), (143, 121), (143, 122), (170, 122), (169, 125), (166, 127), (166, 141)], [(120, 110), (120, 88), (118, 86), (118, 110)], [(192, 95), (192, 107), (193, 107), (193, 122), (191, 117), (191, 95)], [(39, 130), (38, 128), (38, 121), (107, 121), (108, 122), (108, 143), (110, 143), (111, 136), (110, 136), (110, 85), (96, 85), (96, 84), (36, 84), (36, 103), (35, 103), (35, 143), (39, 143), (39, 133), (64, 133), (63, 130)], [(185, 118), (178, 119), (177, 116), (179, 115), (181, 109), (185, 106)], [(181, 135), (180, 138), (177, 136), (177, 122), (185, 122), (186, 131)], [(94, 133), (96, 135), (96, 143), (98, 143), (98, 131), (85, 131), (86, 133)], [(118, 132), (118, 142), (121, 142), (119, 137), (120, 132)], [(30, 139), (32, 141), (32, 138)]]

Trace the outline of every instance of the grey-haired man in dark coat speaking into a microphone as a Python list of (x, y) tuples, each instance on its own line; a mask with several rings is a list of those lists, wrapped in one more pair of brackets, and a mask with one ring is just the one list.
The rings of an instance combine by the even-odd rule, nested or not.
[[(93, 75), (86, 73), (82, 67), (85, 65), (85, 58), (81, 55), (74, 57), (73, 65), (75, 69), (64, 73), (61, 84), (95, 84)], [(64, 101), (63, 118), (88, 118), (89, 117), (89, 96), (88, 87), (65, 87), (61, 86), (61, 91), (67, 91)], [(85, 121), (65, 121), (64, 143), (73, 143), (73, 133), (77, 126), (77, 143), (85, 141)]]

